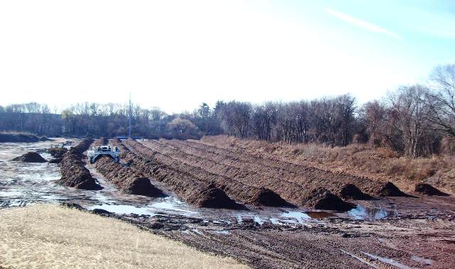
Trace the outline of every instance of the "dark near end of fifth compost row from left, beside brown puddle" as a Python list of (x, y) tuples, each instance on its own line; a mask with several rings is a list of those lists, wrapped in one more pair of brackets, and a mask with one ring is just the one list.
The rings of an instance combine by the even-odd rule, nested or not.
[(343, 201), (329, 190), (319, 187), (311, 191), (304, 199), (304, 205), (312, 209), (348, 211), (355, 208), (355, 204)]

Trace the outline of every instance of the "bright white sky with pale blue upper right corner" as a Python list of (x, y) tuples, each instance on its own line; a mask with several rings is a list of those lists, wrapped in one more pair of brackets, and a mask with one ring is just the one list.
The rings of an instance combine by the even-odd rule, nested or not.
[(455, 62), (455, 1), (0, 1), (0, 105), (359, 104)]

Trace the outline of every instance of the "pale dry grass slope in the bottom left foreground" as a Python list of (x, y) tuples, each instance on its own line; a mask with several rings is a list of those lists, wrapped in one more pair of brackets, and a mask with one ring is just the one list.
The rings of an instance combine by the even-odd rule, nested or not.
[(0, 209), (0, 268), (247, 268), (77, 209)]

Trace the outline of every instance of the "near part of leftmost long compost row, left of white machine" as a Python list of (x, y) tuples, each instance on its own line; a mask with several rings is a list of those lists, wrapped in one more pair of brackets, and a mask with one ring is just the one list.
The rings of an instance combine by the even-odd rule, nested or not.
[(60, 184), (82, 190), (101, 190), (102, 187), (97, 184), (90, 171), (85, 168), (82, 157), (83, 155), (74, 148), (65, 153), (60, 163), (60, 172), (62, 173)]

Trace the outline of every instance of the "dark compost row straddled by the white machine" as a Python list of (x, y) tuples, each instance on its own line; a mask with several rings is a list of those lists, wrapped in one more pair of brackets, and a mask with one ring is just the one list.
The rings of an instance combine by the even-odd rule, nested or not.
[[(100, 138), (93, 143), (93, 146), (106, 144), (107, 138)], [(95, 161), (95, 168), (123, 193), (149, 197), (165, 196), (161, 190), (151, 185), (149, 178), (144, 174), (122, 164), (114, 163), (114, 160), (108, 156), (98, 158)]]

